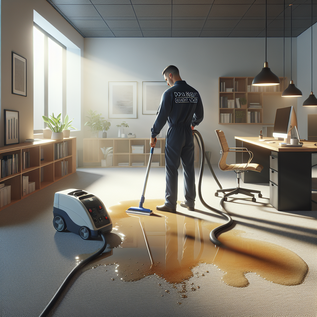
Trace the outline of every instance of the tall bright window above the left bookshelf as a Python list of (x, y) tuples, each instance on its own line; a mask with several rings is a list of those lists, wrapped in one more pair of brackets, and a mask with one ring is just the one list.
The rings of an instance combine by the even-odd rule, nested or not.
[(66, 47), (34, 23), (34, 133), (46, 127), (42, 115), (66, 116)]

